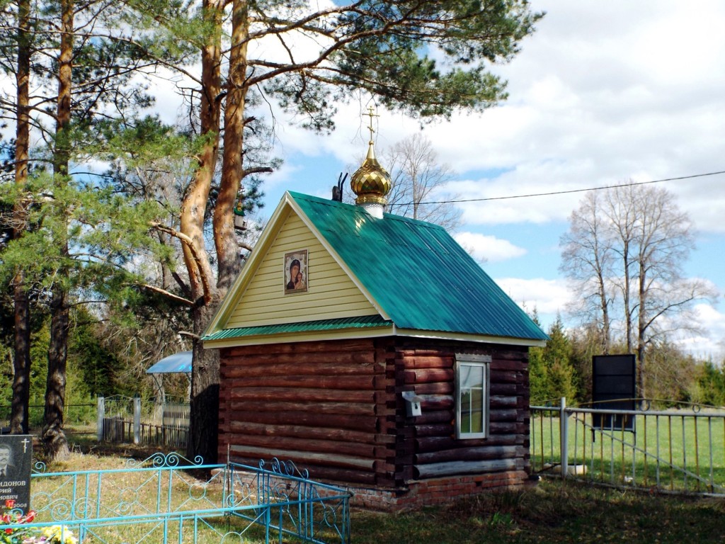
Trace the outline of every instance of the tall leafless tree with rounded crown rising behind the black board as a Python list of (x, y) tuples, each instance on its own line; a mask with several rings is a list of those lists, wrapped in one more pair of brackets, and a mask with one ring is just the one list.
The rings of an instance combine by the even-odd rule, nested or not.
[(705, 281), (684, 276), (695, 247), (692, 222), (666, 189), (629, 185), (603, 197), (588, 194), (562, 245), (561, 269), (584, 293), (586, 315), (597, 316), (603, 328), (611, 310), (621, 313), (626, 349), (637, 353), (637, 395), (644, 398), (648, 348), (699, 330), (694, 304), (716, 294)]

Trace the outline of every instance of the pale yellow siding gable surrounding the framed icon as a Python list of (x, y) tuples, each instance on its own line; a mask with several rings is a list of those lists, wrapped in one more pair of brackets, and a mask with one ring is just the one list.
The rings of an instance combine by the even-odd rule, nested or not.
[[(307, 250), (307, 292), (285, 294), (284, 256)], [(378, 310), (291, 212), (224, 323), (225, 329), (357, 316)]]

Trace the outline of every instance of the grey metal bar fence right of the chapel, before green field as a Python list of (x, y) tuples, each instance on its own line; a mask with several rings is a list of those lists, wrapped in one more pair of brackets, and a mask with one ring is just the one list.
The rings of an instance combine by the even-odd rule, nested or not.
[(618, 487), (725, 495), (725, 411), (531, 406), (531, 467)]

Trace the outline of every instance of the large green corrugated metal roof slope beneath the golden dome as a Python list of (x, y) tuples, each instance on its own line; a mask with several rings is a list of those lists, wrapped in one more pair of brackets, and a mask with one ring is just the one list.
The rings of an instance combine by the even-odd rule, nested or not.
[(444, 228), (289, 195), (399, 329), (547, 339)]

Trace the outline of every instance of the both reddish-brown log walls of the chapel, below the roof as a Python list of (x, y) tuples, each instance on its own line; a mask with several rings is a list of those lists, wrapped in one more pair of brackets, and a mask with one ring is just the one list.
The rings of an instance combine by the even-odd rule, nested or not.
[[(491, 355), (489, 437), (455, 439), (455, 353)], [(378, 339), (221, 353), (219, 458), (291, 460), (312, 478), (405, 487), (413, 479), (528, 471), (526, 347)], [(407, 417), (402, 392), (423, 398)]]

